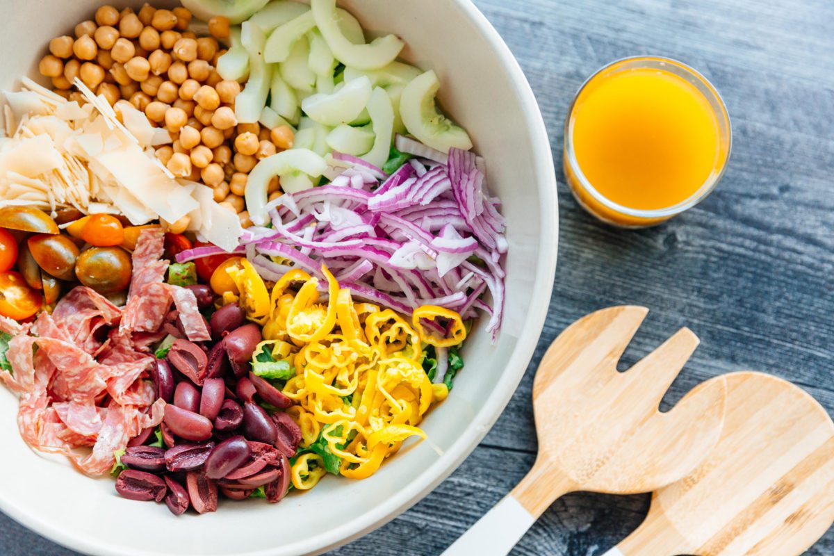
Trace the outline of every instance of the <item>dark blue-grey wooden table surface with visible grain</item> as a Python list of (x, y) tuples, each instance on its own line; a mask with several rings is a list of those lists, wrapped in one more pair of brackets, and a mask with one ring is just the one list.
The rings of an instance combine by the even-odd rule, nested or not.
[[(555, 288), (520, 388), (434, 493), (334, 556), (439, 554), (498, 502), (535, 458), (529, 401), (538, 359), (568, 323), (598, 308), (651, 308), (624, 366), (683, 325), (701, 337), (667, 402), (713, 375), (758, 369), (794, 381), (834, 410), (834, 3), (475, 3), (524, 68), (556, 160), (580, 83), (616, 58), (661, 54), (697, 68), (721, 91), (733, 125), (730, 165), (704, 203), (640, 232), (607, 228), (583, 213), (559, 170)], [(570, 494), (513, 554), (604, 553), (636, 528), (648, 505), (648, 495)], [(834, 553), (834, 531), (807, 553)], [(73, 553), (0, 514), (0, 554)]]

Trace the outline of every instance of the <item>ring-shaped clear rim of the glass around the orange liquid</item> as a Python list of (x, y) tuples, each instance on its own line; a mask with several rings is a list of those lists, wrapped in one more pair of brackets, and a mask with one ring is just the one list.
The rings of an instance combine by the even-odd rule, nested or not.
[[(726, 143), (726, 156), (724, 157), (723, 163), (721, 163), (721, 168), (718, 168), (716, 172), (713, 172), (706, 178), (706, 181), (701, 184), (695, 193), (692, 193), (688, 198), (684, 199), (680, 203), (676, 203), (671, 207), (665, 208), (652, 208), (652, 209), (645, 209), (645, 208), (629, 208), (625, 207), (619, 203), (615, 203), (611, 201), (609, 198), (606, 198), (605, 195), (600, 193), (596, 190), (596, 188), (590, 183), (588, 178), (585, 178), (585, 174), (582, 173), (582, 169), (580, 168), (579, 161), (576, 159), (576, 153), (574, 152), (573, 146), (573, 134), (572, 131), (572, 121), (574, 115), (574, 109), (576, 108), (576, 101), (580, 98), (580, 95), (585, 90), (585, 88), (598, 76), (600, 73), (605, 72), (605, 70), (614, 67), (617, 64), (625, 63), (625, 62), (633, 62), (639, 60), (646, 60), (646, 61), (655, 61), (660, 63), (671, 63), (672, 65), (676, 66), (677, 68), (681, 68), (686, 73), (690, 73), (693, 77), (697, 78), (699, 82), (706, 88), (706, 92), (712, 95), (714, 100), (716, 101), (719, 108), (721, 108), (720, 113), (716, 112), (716, 120), (719, 120), (719, 126), (721, 126), (721, 117), (723, 117), (724, 122), (726, 122), (726, 134), (727, 134), (727, 143)], [(699, 88), (699, 91), (701, 88)], [(705, 93), (701, 91), (701, 93)], [(709, 99), (707, 99), (709, 100)], [(627, 216), (633, 216), (636, 218), (664, 218), (664, 217), (671, 217), (675, 216), (676, 214), (680, 214), (685, 210), (694, 207), (696, 204), (701, 203), (710, 193), (716, 188), (718, 182), (721, 181), (721, 178), (724, 176), (726, 171), (727, 163), (730, 161), (730, 154), (732, 152), (732, 123), (730, 120), (730, 113), (727, 112), (726, 104), (724, 103), (724, 98), (721, 97), (721, 93), (718, 92), (718, 89), (710, 82), (709, 79), (704, 77), (700, 72), (698, 72), (695, 68), (683, 63), (679, 60), (674, 58), (667, 58), (665, 56), (652, 56), (652, 55), (645, 55), (645, 56), (627, 56), (625, 58), (619, 58), (614, 60), (611, 63), (605, 64), (601, 68), (597, 69), (594, 73), (590, 75), (589, 78), (585, 79), (580, 85), (580, 88), (577, 89), (576, 94), (574, 95), (573, 100), (570, 101), (570, 106), (568, 107), (567, 118), (565, 118), (565, 162), (570, 165), (570, 171), (574, 174), (575, 179), (580, 183), (580, 185), (585, 188), (585, 191), (590, 193), (590, 196), (595, 198), (595, 200), (599, 201), (603, 204), (606, 208), (610, 208), (617, 213), (625, 214)]]

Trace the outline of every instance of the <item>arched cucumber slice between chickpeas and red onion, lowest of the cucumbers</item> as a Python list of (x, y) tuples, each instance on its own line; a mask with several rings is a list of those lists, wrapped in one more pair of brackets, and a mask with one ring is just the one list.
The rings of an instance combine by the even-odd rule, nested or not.
[(324, 158), (306, 148), (290, 148), (271, 157), (264, 158), (252, 168), (246, 182), (246, 208), (252, 222), (263, 226), (269, 221), (266, 213), (269, 181), (275, 176), (290, 173), (305, 173), (318, 178), (327, 170)]

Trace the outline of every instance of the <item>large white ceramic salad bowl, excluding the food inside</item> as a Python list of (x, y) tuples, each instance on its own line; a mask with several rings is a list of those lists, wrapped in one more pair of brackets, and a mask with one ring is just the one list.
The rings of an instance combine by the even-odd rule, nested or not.
[[(101, 0), (0, 0), (3, 87), (35, 75), (50, 38), (71, 33)], [(113, 2), (117, 5), (140, 2)], [(404, 448), (364, 481), (326, 478), (277, 505), (221, 503), (217, 513), (174, 518), (164, 505), (119, 498), (99, 480), (28, 449), (18, 403), (0, 387), (0, 509), (70, 548), (118, 556), (302, 554), (334, 548), (416, 503), (484, 437), (530, 362), (550, 300), (557, 242), (556, 188), (545, 125), (524, 75), (469, 0), (345, 0), (372, 32), (399, 34), (404, 58), (440, 76), (440, 98), (486, 158), (490, 190), (503, 200), (510, 252), (500, 342), (476, 327), (450, 397), (424, 422), (428, 441)]]

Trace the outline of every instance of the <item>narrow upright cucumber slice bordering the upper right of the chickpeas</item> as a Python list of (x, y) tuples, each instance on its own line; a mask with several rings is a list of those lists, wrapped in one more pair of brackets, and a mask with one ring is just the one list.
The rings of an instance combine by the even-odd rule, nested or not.
[(234, 115), (239, 123), (256, 123), (266, 106), (272, 84), (273, 66), (264, 62), (266, 33), (254, 23), (241, 26), (240, 42), (249, 52), (249, 81), (234, 100)]

